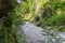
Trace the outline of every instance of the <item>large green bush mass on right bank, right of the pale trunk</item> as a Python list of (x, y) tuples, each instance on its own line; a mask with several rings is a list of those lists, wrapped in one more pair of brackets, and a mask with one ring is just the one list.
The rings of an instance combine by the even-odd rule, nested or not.
[(65, 8), (64, 8), (65, 1), (49, 1), (43, 4), (41, 16), (40, 16), (40, 23), (41, 26), (50, 26), (54, 27), (56, 26), (58, 31), (64, 31), (64, 29), (61, 29), (58, 27), (65, 25)]

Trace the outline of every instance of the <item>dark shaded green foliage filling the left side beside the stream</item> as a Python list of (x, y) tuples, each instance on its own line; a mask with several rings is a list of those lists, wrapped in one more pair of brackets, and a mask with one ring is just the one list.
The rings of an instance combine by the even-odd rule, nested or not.
[[(1, 1), (0, 15), (5, 17), (0, 29), (0, 43), (25, 43), (25, 40), (18, 42), (20, 35), (16, 35), (17, 29), (22, 24), (22, 6), (17, 4), (16, 0)], [(5, 4), (4, 4), (5, 3)], [(2, 11), (1, 11), (2, 10)], [(22, 30), (23, 31), (23, 30)], [(22, 38), (24, 33), (22, 32)], [(18, 37), (18, 38), (17, 38)]]

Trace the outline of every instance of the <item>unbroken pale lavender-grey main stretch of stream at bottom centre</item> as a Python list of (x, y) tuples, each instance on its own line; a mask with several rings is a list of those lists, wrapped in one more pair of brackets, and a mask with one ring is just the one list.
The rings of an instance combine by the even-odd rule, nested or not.
[(28, 43), (40, 43), (39, 40), (42, 40), (41, 28), (36, 27), (34, 24), (28, 22), (23, 26), (23, 30), (26, 33), (26, 40)]

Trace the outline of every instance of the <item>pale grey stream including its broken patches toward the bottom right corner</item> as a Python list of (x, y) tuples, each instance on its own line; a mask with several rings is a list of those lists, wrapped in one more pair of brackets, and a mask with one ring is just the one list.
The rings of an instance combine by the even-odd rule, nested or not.
[[(42, 41), (44, 41), (42, 43), (48, 43), (47, 41), (49, 39), (47, 39), (46, 35), (42, 35), (42, 32), (41, 32), (42, 29), (40, 27), (37, 27), (34, 24), (26, 22), (22, 28), (24, 30), (24, 33), (26, 34), (27, 43), (41, 43)], [(58, 33), (58, 34), (61, 37), (63, 37), (63, 33)], [(64, 33), (64, 35), (65, 35), (65, 33)], [(53, 40), (52, 43), (60, 43), (57, 40), (56, 40), (57, 42), (54, 39), (52, 39), (52, 40)], [(65, 42), (63, 42), (63, 43), (65, 43)]]

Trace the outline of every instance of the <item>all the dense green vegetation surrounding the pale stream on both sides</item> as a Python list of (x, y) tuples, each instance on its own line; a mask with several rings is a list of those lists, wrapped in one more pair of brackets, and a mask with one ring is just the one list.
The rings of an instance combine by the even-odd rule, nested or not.
[[(0, 0), (0, 43), (26, 43), (16, 35), (22, 22), (65, 31), (64, 0)], [(24, 33), (22, 32), (22, 38)]]

